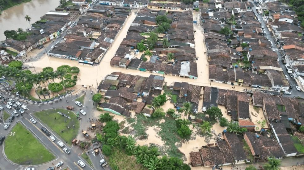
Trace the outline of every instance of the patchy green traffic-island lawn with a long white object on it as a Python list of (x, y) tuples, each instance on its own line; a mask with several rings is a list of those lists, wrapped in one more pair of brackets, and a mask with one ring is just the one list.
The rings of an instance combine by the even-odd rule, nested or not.
[[(71, 119), (59, 115), (59, 113), (71, 117)], [(40, 112), (35, 112), (34, 115), (56, 132), (65, 142), (72, 144), (72, 140), (76, 138), (79, 130), (79, 121), (76, 120), (76, 114), (67, 109), (49, 109)], [(56, 117), (56, 119), (55, 119)], [(66, 123), (65, 123), (66, 121)], [(73, 125), (75, 126), (73, 129)], [(67, 128), (69, 126), (70, 128)], [(63, 130), (64, 132), (60, 132)]]

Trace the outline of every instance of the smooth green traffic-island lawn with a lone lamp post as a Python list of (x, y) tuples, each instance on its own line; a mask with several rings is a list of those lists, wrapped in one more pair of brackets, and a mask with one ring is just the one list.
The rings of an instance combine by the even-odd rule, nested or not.
[(17, 123), (4, 140), (4, 152), (7, 158), (20, 165), (37, 165), (53, 160), (49, 152), (22, 124)]

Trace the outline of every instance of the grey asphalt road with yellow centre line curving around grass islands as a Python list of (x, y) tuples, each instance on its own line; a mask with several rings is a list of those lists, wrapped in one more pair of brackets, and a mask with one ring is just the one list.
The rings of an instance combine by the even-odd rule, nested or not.
[[(93, 170), (93, 168), (91, 168), (90, 166), (87, 165), (87, 163), (85, 162), (85, 160), (82, 159), (82, 157), (80, 156), (81, 153), (82, 153), (82, 149), (79, 147), (79, 146), (68, 146), (68, 145), (65, 145), (64, 147), (67, 147), (69, 148), (70, 150), (70, 154), (66, 154), (64, 151), (63, 151), (63, 148), (64, 147), (60, 147), (58, 146), (57, 142), (60, 140), (60, 141), (63, 141), (62, 139), (60, 139), (60, 136), (57, 135), (57, 133), (54, 133), (52, 132), (51, 129), (47, 128), (51, 134), (56, 138), (56, 140), (54, 142), (52, 142), (49, 137), (47, 135), (44, 134), (44, 132), (41, 131), (41, 127), (46, 127), (43, 122), (40, 122), (38, 119), (36, 119), (34, 116), (33, 116), (33, 112), (35, 111), (40, 111), (42, 109), (52, 109), (52, 108), (62, 108), (62, 106), (66, 107), (67, 105), (71, 105), (71, 106), (74, 106), (75, 108), (75, 112), (78, 111), (79, 108), (82, 108), (83, 110), (85, 110), (87, 112), (86, 115), (81, 115), (82, 119), (81, 119), (81, 123), (80, 123), (80, 128), (79, 128), (79, 133), (78, 133), (78, 137), (79, 136), (82, 136), (81, 135), (81, 129), (87, 129), (87, 127), (89, 126), (89, 122), (86, 121), (86, 119), (88, 118), (93, 118), (93, 115), (92, 115), (92, 109), (93, 109), (93, 105), (92, 105), (92, 101), (91, 101), (91, 97), (92, 97), (92, 94), (90, 93), (91, 90), (88, 89), (88, 90), (85, 90), (86, 91), (86, 97), (85, 97), (85, 102), (83, 104), (82, 107), (79, 107), (78, 105), (75, 104), (75, 102), (73, 101), (75, 98), (79, 97), (81, 94), (78, 94), (78, 96), (76, 97), (75, 95), (70, 95), (69, 97), (66, 97), (65, 99), (63, 99), (62, 101), (58, 101), (58, 102), (55, 102), (53, 103), (52, 105), (29, 105), (29, 104), (26, 104), (26, 103), (22, 103), (22, 104), (25, 104), (28, 106), (28, 114), (24, 113), (23, 114), (23, 117), (20, 115), (18, 117), (15, 117), (15, 120), (11, 123), (11, 126), (9, 129), (7, 130), (4, 130), (3, 126), (4, 126), (4, 123), (1, 123), (1, 127), (0, 127), (0, 136), (7, 136), (8, 133), (10, 132), (11, 128), (15, 125), (15, 123), (22, 123), (23, 125), (25, 125), (36, 137), (38, 140), (40, 140), (40, 142), (42, 144), (45, 145), (46, 148), (48, 148), (51, 152), (53, 152), (53, 154), (57, 157), (55, 160), (49, 162), (49, 163), (46, 163), (46, 164), (43, 164), (43, 165), (39, 165), (39, 166), (34, 166), (36, 169), (47, 169), (48, 167), (51, 167), (53, 166), (53, 164), (57, 164), (59, 161), (63, 161), (63, 166), (61, 168), (64, 168), (64, 167), (69, 167), (70, 169), (73, 169), (73, 170), (76, 170), (76, 169), (80, 169), (80, 170)], [(80, 92), (81, 93), (81, 92)], [(6, 95), (2, 95), (4, 97), (8, 97), (10, 98), (9, 96), (6, 96)], [(67, 103), (66, 100), (68, 100), (69, 102)], [(15, 101), (16, 102), (16, 101)], [(20, 101), (19, 101), (20, 102)], [(1, 102), (2, 103), (2, 102)], [(11, 109), (7, 109), (5, 107), (5, 104), (2, 104), (1, 105), (8, 113), (11, 113), (13, 112), (13, 108)], [(20, 113), (19, 113), (20, 114)], [(36, 124), (33, 124), (32, 122), (30, 122), (29, 120), (31, 118), (34, 118), (37, 123)], [(6, 121), (8, 123), (8, 121)], [(16, 170), (19, 170), (19, 169), (25, 169), (27, 167), (25, 166), (19, 166), (19, 165), (15, 165), (15, 164), (12, 164), (10, 161), (6, 160), (6, 158), (4, 157), (4, 147), (2, 145), (2, 152), (0, 153), (0, 162), (1, 162), (1, 165), (0, 165), (0, 168), (1, 169), (16, 169)], [(99, 156), (99, 157), (98, 157)], [(94, 157), (94, 159), (92, 159), (92, 163), (94, 164), (94, 167), (96, 169), (103, 169), (100, 165), (99, 165), (99, 160), (101, 160), (102, 156), (99, 154), (99, 155), (96, 155)], [(92, 156), (91, 156), (92, 158)], [(78, 160), (82, 160), (83, 162), (85, 162), (86, 166), (84, 168), (81, 168), (78, 164), (77, 164), (77, 161)]]

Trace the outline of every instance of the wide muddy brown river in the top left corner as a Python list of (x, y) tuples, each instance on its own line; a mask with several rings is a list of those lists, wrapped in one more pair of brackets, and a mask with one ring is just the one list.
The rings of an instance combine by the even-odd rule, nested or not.
[(30, 24), (24, 19), (26, 15), (31, 17), (31, 23), (34, 23), (49, 10), (55, 10), (58, 5), (58, 0), (32, 0), (2, 11), (0, 15), (0, 41), (5, 40), (3, 34), (5, 30), (29, 28)]

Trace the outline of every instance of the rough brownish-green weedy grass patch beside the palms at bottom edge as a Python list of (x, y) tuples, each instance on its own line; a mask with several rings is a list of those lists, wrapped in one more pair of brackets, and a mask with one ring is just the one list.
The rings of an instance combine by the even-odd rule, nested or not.
[(134, 156), (128, 156), (119, 148), (113, 148), (110, 157), (106, 157), (108, 164), (112, 169), (119, 170), (147, 170), (141, 164), (136, 163)]

